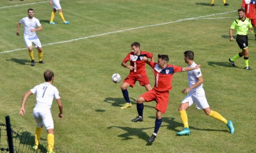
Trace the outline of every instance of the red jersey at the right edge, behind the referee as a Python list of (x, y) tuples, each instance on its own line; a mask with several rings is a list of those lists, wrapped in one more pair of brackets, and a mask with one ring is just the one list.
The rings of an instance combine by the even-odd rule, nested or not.
[(255, 8), (256, 8), (256, 0), (243, 0), (242, 6), (245, 9), (245, 15), (249, 19), (255, 19)]

